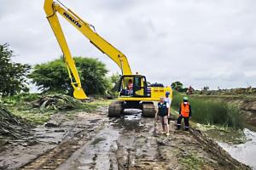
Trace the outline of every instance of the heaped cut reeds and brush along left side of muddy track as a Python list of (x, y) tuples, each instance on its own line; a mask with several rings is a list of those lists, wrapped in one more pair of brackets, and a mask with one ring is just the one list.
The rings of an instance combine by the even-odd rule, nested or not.
[(3, 99), (1, 102), (0, 139), (27, 139), (32, 125), (47, 122), (54, 112), (90, 111), (93, 107), (64, 94), (37, 95), (36, 99), (33, 97), (34, 100), (24, 100), (23, 97)]

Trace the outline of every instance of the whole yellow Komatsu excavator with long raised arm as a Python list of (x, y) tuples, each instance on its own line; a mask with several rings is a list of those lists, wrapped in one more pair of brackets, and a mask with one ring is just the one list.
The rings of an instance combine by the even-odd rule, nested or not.
[(73, 96), (76, 99), (88, 99), (88, 97), (81, 86), (79, 73), (67, 46), (57, 13), (77, 28), (103, 54), (107, 54), (108, 57), (113, 59), (122, 71), (122, 76), (119, 79), (119, 97), (109, 105), (108, 116), (119, 117), (124, 113), (125, 109), (140, 109), (143, 111), (143, 116), (154, 117), (154, 101), (158, 101), (160, 96), (165, 96), (166, 92), (169, 92), (172, 98), (172, 88), (165, 88), (162, 84), (148, 85), (146, 77), (132, 74), (125, 54), (122, 54), (117, 48), (114, 48), (98, 35), (94, 26), (82, 20), (78, 14), (75, 14), (60, 1), (44, 0), (44, 11), (64, 55), (68, 75), (74, 90)]

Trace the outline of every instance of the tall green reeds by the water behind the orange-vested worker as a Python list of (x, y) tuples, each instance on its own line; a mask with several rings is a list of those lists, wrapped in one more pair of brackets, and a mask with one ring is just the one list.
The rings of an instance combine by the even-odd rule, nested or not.
[[(183, 95), (173, 92), (172, 107), (179, 110)], [(224, 127), (243, 127), (240, 109), (218, 99), (189, 97), (192, 107), (192, 120), (202, 124), (220, 125)]]

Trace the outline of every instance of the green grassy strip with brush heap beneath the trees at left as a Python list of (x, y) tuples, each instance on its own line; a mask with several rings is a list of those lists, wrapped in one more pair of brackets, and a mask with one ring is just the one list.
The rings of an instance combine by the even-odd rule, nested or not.
[(56, 112), (61, 111), (72, 117), (77, 111), (90, 113), (101, 106), (109, 105), (110, 102), (111, 100), (100, 98), (82, 102), (64, 94), (16, 94), (4, 97), (1, 103), (15, 116), (33, 124), (43, 124)]

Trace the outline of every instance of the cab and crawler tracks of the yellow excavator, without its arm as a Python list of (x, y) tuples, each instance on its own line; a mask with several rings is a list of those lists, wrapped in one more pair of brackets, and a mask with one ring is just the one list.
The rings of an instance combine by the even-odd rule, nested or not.
[[(125, 109), (139, 109), (143, 116), (154, 117), (151, 88), (142, 75), (123, 75), (119, 79), (119, 98), (108, 107), (108, 116), (119, 117)], [(159, 99), (159, 98), (158, 98)]]

